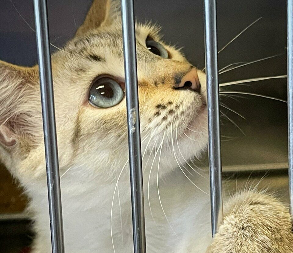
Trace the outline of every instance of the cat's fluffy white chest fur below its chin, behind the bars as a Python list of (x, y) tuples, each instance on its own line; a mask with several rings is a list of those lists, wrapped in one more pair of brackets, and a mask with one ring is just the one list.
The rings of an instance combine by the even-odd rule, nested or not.
[[(115, 195), (116, 180), (82, 182), (78, 174), (72, 171), (61, 179), (66, 251), (132, 252), (128, 169), (121, 174)], [(211, 238), (209, 196), (195, 188), (178, 168), (159, 178), (159, 199), (157, 171), (150, 176), (149, 191), (149, 171), (144, 175), (148, 252), (204, 252)], [(207, 179), (197, 174), (188, 175), (194, 184), (208, 190)], [(29, 192), (34, 193), (30, 208), (36, 212), (38, 233), (34, 252), (50, 252), (46, 182), (32, 185)]]

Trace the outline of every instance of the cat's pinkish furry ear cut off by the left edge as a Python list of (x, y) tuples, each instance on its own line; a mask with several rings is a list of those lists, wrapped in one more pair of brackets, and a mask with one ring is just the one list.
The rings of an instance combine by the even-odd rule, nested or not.
[(32, 135), (37, 80), (37, 67), (19, 67), (0, 61), (0, 145), (11, 147)]

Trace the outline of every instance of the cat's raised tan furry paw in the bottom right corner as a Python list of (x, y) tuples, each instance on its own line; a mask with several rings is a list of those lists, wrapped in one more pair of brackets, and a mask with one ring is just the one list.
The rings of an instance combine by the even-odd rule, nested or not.
[(244, 192), (224, 208), (224, 221), (206, 253), (291, 253), (289, 208), (271, 195)]

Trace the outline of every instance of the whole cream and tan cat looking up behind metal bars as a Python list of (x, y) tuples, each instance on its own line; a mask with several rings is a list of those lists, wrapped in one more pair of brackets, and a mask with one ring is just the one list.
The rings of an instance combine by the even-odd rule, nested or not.
[[(211, 240), (207, 172), (194, 168), (191, 181), (183, 170), (206, 151), (205, 74), (151, 24), (136, 24), (136, 47), (147, 252), (293, 252), (288, 208), (254, 191), (225, 202)], [(74, 38), (52, 55), (66, 252), (133, 252), (122, 49), (118, 3), (94, 0)], [(0, 61), (0, 87), (0, 159), (30, 198), (32, 252), (51, 252), (38, 66)], [(175, 170), (194, 191), (180, 205), (169, 196), (163, 208), (159, 180), (168, 180), (165, 191), (184, 187)]]

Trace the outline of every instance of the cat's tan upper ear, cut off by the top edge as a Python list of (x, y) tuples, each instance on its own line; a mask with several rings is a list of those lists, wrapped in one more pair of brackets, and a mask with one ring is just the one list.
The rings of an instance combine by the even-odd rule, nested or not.
[(92, 5), (85, 17), (85, 21), (78, 28), (76, 36), (83, 35), (88, 31), (109, 26), (115, 19), (120, 18), (120, 2), (117, 0), (93, 0)]

